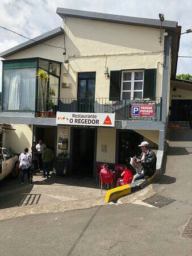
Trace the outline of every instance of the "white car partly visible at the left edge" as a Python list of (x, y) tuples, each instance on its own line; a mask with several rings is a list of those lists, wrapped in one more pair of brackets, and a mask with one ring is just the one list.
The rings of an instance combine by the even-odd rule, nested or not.
[(2, 147), (2, 152), (0, 152), (0, 180), (7, 175), (10, 175), (13, 179), (18, 177), (18, 156), (11, 154), (7, 148)]

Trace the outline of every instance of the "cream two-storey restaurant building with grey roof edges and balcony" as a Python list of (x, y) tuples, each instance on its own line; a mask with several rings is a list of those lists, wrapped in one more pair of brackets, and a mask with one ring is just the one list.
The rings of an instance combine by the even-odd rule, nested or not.
[[(143, 139), (163, 151), (181, 27), (165, 20), (161, 30), (156, 19), (62, 8), (57, 14), (63, 28), (0, 54), (1, 122), (32, 125), (34, 141), (43, 139), (55, 155), (67, 148), (72, 174), (95, 175), (97, 162), (124, 163)], [(56, 92), (49, 118), (39, 68)], [(151, 114), (132, 113), (138, 105)], [(57, 111), (115, 113), (115, 126), (57, 126)]]

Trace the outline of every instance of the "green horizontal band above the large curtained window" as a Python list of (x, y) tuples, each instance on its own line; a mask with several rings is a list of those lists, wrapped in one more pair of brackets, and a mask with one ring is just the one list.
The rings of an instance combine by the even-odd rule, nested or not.
[(26, 59), (26, 60), (7, 60), (3, 61), (3, 69), (15, 69), (15, 68), (36, 68), (36, 59)]

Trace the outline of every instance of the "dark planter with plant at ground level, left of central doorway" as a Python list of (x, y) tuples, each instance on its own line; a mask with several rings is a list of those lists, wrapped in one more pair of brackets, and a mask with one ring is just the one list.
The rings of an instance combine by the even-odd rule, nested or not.
[(68, 170), (68, 151), (63, 151), (57, 154), (56, 160), (56, 175), (67, 175)]

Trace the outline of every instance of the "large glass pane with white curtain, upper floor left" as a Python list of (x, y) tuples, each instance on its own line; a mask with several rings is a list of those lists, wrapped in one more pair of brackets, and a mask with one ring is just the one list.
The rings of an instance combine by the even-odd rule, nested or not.
[(3, 110), (35, 111), (36, 68), (5, 69)]

